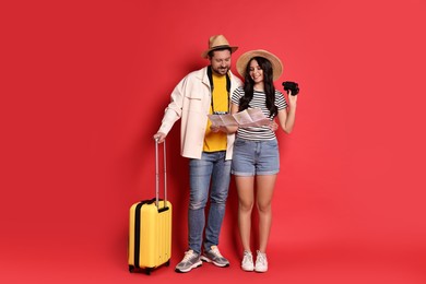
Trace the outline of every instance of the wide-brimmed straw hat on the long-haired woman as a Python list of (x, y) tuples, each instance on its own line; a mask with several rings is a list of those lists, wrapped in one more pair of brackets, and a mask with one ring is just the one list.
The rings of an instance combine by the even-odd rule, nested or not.
[(242, 79), (246, 78), (246, 69), (248, 62), (255, 57), (263, 57), (271, 62), (273, 81), (276, 81), (283, 73), (283, 63), (281, 62), (280, 58), (277, 58), (275, 55), (267, 50), (257, 49), (257, 50), (250, 50), (242, 54), (237, 60), (236, 68), (238, 73), (242, 76)]

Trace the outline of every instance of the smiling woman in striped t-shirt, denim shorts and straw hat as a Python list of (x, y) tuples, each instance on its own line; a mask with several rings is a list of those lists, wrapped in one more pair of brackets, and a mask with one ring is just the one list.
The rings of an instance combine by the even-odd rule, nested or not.
[[(276, 56), (267, 50), (252, 50), (241, 55), (237, 60), (237, 71), (245, 83), (233, 93), (232, 114), (247, 108), (260, 108), (271, 121), (268, 126), (238, 128), (232, 164), (238, 192), (238, 226), (244, 247), (241, 269), (267, 272), (271, 201), (280, 171), (279, 145), (274, 132), (277, 126), (273, 120), (277, 117), (284, 132), (292, 132), (298, 90), (293, 95), (288, 91), (287, 105), (284, 95), (273, 84), (282, 74), (283, 66)], [(259, 214), (259, 247), (253, 263), (250, 230), (255, 200)]]

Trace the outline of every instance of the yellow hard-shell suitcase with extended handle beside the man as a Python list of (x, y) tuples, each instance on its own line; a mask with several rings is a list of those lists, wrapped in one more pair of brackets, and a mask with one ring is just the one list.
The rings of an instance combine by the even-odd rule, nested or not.
[(158, 143), (155, 141), (156, 196), (133, 203), (129, 214), (129, 271), (154, 269), (170, 264), (171, 203), (167, 201), (166, 144), (164, 142), (164, 199), (158, 199)]

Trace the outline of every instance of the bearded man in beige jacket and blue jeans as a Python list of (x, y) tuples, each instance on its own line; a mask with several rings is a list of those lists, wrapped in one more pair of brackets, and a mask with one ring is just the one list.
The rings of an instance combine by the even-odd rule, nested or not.
[[(212, 262), (228, 267), (218, 248), (218, 236), (225, 214), (230, 180), (234, 134), (211, 125), (209, 114), (229, 111), (229, 97), (241, 81), (230, 72), (230, 57), (238, 47), (223, 35), (210, 37), (201, 54), (210, 64), (186, 75), (174, 88), (170, 103), (154, 139), (162, 143), (174, 123), (181, 118), (180, 154), (189, 158), (190, 192), (188, 209), (188, 250), (177, 272), (189, 272)], [(209, 200), (208, 216), (204, 209)], [(203, 230), (205, 227), (205, 238)]]

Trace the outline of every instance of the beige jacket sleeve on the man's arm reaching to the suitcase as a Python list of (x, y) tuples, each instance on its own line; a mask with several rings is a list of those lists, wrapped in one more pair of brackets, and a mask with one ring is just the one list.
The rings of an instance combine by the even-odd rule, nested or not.
[(182, 105), (185, 97), (185, 88), (188, 76), (184, 78), (173, 90), (170, 95), (170, 103), (164, 111), (162, 126), (157, 132), (167, 134), (177, 120), (180, 119), (182, 114)]

